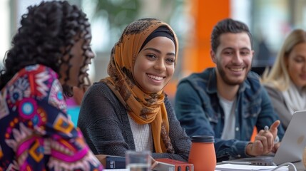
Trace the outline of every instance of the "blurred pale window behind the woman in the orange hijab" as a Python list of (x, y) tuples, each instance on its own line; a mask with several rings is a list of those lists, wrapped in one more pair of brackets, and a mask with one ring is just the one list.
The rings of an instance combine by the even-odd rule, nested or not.
[[(175, 29), (178, 38), (183, 39), (186, 27), (190, 26), (186, 21), (183, 4), (184, 0), (83, 0), (83, 10), (91, 21), (92, 48), (96, 53), (94, 58), (96, 77), (93, 81), (108, 76), (107, 67), (111, 48), (118, 41), (123, 29), (136, 19), (153, 17), (166, 21)], [(183, 44), (183, 40), (180, 40), (180, 50), (183, 49)], [(180, 63), (176, 67), (177, 76)]]

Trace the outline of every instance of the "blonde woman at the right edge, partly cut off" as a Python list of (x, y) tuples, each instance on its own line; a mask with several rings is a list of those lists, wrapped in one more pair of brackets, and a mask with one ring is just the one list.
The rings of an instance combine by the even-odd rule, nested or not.
[(287, 36), (262, 83), (286, 129), (295, 111), (306, 110), (306, 31), (295, 29)]

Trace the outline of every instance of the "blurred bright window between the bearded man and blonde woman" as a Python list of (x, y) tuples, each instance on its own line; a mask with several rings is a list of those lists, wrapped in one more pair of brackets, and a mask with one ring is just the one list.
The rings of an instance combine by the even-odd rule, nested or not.
[(253, 0), (254, 66), (272, 66), (285, 37), (293, 28), (306, 26), (306, 1)]

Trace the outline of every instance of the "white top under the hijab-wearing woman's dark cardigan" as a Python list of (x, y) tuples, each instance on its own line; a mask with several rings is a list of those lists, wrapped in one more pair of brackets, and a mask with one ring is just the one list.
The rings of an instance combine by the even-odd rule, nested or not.
[(151, 124), (139, 125), (128, 115), (136, 151), (153, 151), (153, 138)]

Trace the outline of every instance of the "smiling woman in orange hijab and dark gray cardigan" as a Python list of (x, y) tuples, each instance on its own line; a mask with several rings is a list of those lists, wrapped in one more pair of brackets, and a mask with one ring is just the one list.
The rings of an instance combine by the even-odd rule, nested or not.
[(153, 158), (188, 160), (190, 138), (163, 92), (177, 57), (178, 38), (163, 21), (126, 27), (111, 51), (109, 77), (94, 83), (81, 105), (78, 126), (94, 154), (150, 150)]

